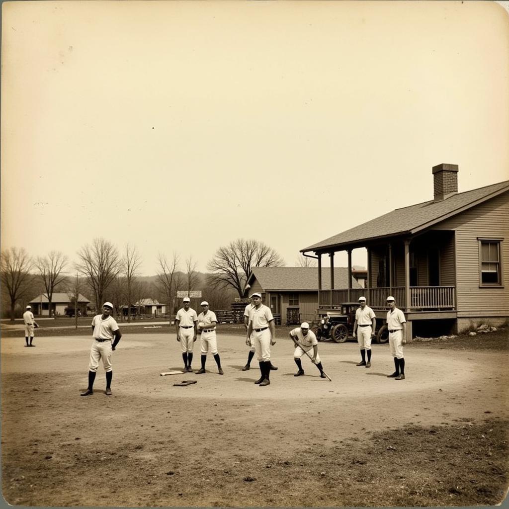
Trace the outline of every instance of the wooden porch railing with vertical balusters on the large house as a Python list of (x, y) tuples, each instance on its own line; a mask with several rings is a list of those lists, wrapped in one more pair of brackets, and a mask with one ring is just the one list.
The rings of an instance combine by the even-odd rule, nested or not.
[[(339, 306), (343, 302), (348, 302), (347, 289), (332, 290), (332, 301), (330, 290), (320, 290), (318, 293), (320, 306)], [(409, 306), (405, 299), (405, 287), (351, 289), (350, 301), (356, 302), (361, 295), (366, 297), (367, 304), (373, 308), (386, 308), (386, 299), (389, 295), (394, 297), (396, 305), (400, 308), (410, 307), (414, 310), (456, 308), (454, 286), (410, 287)]]

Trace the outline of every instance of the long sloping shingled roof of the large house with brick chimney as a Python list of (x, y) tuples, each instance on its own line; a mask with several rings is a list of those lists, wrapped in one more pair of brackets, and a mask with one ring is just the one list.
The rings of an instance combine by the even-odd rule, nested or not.
[[(300, 251), (320, 251), (394, 235), (413, 235), (507, 191), (509, 191), (509, 180), (458, 193), (440, 202), (432, 200), (396, 209)], [(334, 286), (336, 286), (335, 281)]]

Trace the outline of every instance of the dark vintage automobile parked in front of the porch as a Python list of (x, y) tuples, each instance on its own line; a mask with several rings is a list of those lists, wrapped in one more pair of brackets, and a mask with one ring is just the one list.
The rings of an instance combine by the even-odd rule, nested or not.
[[(317, 340), (345, 343), (349, 337), (352, 337), (357, 307), (359, 307), (358, 302), (344, 302), (341, 304), (341, 311), (329, 311), (323, 315), (319, 323), (314, 325), (311, 329), (317, 336)], [(388, 341), (389, 331), (387, 330), (387, 326), (379, 326), (377, 324), (375, 342), (387, 343)]]

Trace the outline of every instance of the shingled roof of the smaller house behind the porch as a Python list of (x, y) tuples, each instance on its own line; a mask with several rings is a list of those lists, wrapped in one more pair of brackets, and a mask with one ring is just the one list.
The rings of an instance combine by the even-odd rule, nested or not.
[[(247, 280), (256, 277), (266, 292), (318, 291), (318, 267), (253, 267)], [(334, 288), (348, 288), (348, 268), (334, 267)], [(352, 288), (362, 288), (352, 277)], [(330, 289), (330, 268), (322, 267), (322, 290)]]

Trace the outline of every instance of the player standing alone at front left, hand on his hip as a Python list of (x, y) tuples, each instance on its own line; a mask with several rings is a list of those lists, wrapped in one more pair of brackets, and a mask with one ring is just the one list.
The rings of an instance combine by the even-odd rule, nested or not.
[(94, 342), (90, 349), (89, 386), (86, 391), (80, 394), (81, 396), (89, 396), (94, 393), (94, 380), (101, 359), (106, 372), (106, 395), (111, 395), (111, 379), (113, 377), (111, 356), (122, 337), (117, 321), (111, 316), (112, 312), (113, 304), (105, 302), (102, 306), (102, 315), (96, 315), (92, 320)]

